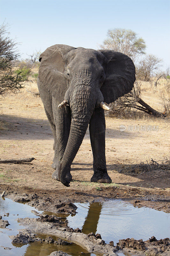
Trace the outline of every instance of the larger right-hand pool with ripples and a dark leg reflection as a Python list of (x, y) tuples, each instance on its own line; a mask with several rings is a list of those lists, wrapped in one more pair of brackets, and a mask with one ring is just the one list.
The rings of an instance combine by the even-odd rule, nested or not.
[(121, 200), (102, 203), (77, 203), (78, 213), (68, 216), (71, 228), (82, 232), (99, 233), (106, 243), (119, 239), (135, 238), (146, 241), (151, 236), (157, 239), (170, 236), (170, 214), (150, 208), (138, 208)]

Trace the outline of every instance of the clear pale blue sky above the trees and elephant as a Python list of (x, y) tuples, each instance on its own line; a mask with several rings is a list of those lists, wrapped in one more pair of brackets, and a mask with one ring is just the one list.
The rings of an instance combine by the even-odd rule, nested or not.
[(125, 28), (143, 37), (147, 53), (170, 66), (170, 1), (168, 0), (1, 0), (0, 21), (11, 25), (26, 58), (53, 44), (98, 49), (107, 30)]

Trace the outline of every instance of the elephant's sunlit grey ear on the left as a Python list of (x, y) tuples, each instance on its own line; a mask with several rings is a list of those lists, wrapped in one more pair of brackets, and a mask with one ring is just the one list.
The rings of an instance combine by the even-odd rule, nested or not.
[(68, 52), (76, 49), (69, 45), (55, 44), (48, 47), (39, 57), (40, 68), (38, 78), (48, 92), (63, 101), (67, 84), (63, 76), (65, 57)]

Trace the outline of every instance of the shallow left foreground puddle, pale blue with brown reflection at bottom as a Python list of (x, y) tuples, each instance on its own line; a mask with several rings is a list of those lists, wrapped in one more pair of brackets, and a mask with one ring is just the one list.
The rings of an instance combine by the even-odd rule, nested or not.
[[(59, 250), (67, 252), (68, 254), (71, 254), (73, 256), (96, 256), (96, 254), (88, 253), (85, 249), (81, 248), (77, 244), (63, 246), (34, 242), (26, 245), (12, 245), (9, 236), (17, 235), (18, 229), (25, 228), (20, 226), (16, 219), (26, 217), (38, 218), (34, 213), (31, 212), (32, 210), (36, 210), (37, 212), (42, 213), (42, 211), (38, 211), (32, 206), (26, 204), (19, 204), (13, 202), (11, 199), (3, 199), (0, 197), (0, 215), (2, 216), (3, 220), (8, 220), (8, 222), (10, 223), (10, 225), (6, 228), (0, 228), (0, 256), (47, 256), (51, 252)], [(7, 212), (9, 212), (8, 217), (4, 216), (4, 214)], [(48, 236), (49, 235), (37, 234), (37, 237), (40, 237), (41, 239), (46, 239)], [(51, 237), (53, 237), (54, 240), (58, 238), (56, 236)], [(10, 247), (11, 250), (4, 250), (4, 248), (1, 246)]]

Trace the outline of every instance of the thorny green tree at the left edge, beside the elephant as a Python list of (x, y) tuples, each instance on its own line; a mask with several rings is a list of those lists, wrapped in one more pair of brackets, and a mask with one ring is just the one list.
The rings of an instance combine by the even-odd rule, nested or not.
[(16, 92), (23, 87), (20, 74), (16, 74), (14, 62), (19, 58), (17, 43), (10, 38), (8, 26), (0, 26), (0, 95)]

